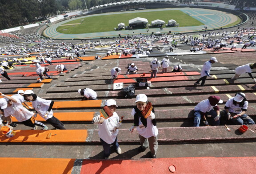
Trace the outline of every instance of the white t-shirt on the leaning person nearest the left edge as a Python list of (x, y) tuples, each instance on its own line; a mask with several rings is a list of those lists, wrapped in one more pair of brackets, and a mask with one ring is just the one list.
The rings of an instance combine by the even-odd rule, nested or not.
[(34, 113), (32, 111), (28, 111), (22, 105), (22, 96), (20, 95), (12, 95), (13, 99), (16, 99), (17, 103), (12, 103), (11, 106), (4, 109), (4, 116), (8, 117), (10, 115), (14, 116), (19, 122), (26, 121), (30, 119)]

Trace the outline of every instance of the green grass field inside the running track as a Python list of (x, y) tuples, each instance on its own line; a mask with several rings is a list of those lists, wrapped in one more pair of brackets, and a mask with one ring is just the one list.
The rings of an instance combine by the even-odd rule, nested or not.
[(124, 23), (126, 26), (129, 20), (142, 17), (148, 19), (148, 24), (151, 24), (153, 20), (164, 20), (168, 23), (168, 20), (176, 20), (180, 24), (180, 27), (203, 25), (198, 20), (188, 16), (180, 10), (158, 11), (158, 12), (138, 12), (138, 13), (124, 13), (116, 15), (102, 15), (83, 18), (82, 24), (78, 24), (82, 19), (73, 20), (65, 24), (74, 24), (67, 26), (60, 26), (56, 29), (57, 32), (64, 34), (81, 34), (92, 32), (109, 32), (114, 28), (118, 28), (119, 23)]

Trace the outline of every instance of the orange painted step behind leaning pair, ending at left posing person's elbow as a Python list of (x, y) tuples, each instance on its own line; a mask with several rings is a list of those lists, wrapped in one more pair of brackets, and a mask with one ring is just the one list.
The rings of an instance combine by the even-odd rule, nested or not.
[[(60, 121), (92, 121), (95, 112), (53, 112), (53, 115)], [(12, 117), (13, 122), (18, 120)], [(37, 115), (36, 121), (45, 122), (45, 119)]]

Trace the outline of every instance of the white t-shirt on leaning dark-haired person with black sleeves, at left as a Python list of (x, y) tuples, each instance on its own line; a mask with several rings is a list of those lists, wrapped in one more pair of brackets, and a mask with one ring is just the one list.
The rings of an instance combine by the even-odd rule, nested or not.
[(44, 115), (46, 114), (52, 100), (42, 99), (40, 97), (36, 97), (35, 101), (32, 101), (32, 106), (35, 108), (36, 112), (45, 120), (52, 118), (53, 111), (51, 110), (46, 118)]

